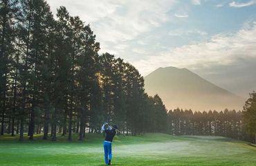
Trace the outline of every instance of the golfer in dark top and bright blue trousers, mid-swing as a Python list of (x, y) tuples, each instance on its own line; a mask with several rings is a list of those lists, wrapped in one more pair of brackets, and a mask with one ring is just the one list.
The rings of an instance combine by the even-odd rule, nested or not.
[(103, 142), (104, 147), (104, 157), (105, 157), (105, 163), (106, 165), (111, 165), (111, 159), (112, 159), (112, 141), (113, 137), (116, 135), (116, 129), (118, 127), (116, 125), (113, 125), (111, 127), (107, 122), (105, 122), (102, 125), (102, 131), (104, 131), (105, 134), (105, 140)]

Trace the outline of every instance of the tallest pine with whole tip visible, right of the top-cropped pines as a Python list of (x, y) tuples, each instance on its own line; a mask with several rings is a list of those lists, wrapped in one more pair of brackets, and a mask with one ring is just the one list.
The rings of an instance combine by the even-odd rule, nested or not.
[[(70, 16), (64, 6), (57, 9), (57, 24), (55, 28), (55, 78), (53, 81), (54, 98), (52, 140), (56, 140), (57, 125), (63, 126), (66, 120), (66, 100), (68, 95), (68, 77), (71, 75), (71, 29)], [(64, 120), (64, 121), (63, 121)], [(57, 123), (57, 122), (60, 123)]]

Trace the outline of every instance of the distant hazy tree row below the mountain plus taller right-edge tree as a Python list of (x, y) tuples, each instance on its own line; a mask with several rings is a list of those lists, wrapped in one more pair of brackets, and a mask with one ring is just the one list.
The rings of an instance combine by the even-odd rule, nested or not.
[(167, 133), (175, 136), (224, 136), (256, 142), (256, 93), (250, 93), (243, 111), (192, 111), (167, 113)]

